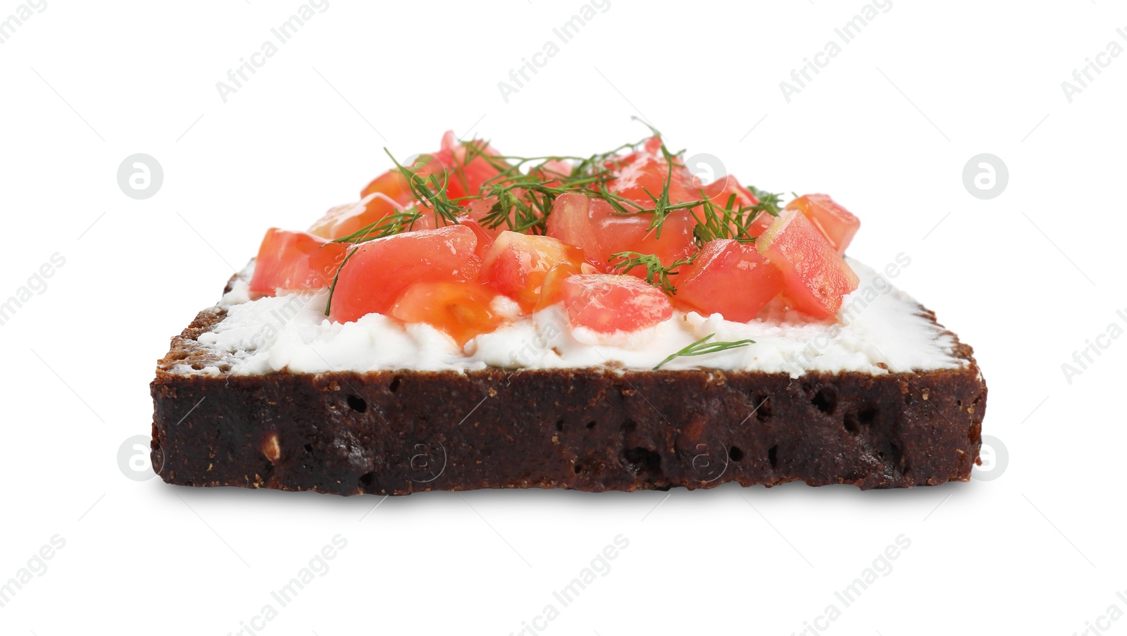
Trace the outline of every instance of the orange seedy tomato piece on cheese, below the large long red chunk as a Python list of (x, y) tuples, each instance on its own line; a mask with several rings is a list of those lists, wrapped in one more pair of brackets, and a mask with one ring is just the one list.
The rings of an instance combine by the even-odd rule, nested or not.
[(415, 283), (391, 307), (391, 316), (403, 323), (426, 323), (462, 346), (505, 321), (489, 307), (496, 297), (497, 292), (479, 283)]

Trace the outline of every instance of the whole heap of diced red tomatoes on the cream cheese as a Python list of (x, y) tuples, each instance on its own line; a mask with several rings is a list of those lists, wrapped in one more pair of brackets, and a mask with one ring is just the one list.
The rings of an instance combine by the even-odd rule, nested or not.
[[(702, 183), (698, 168), (708, 166), (667, 156), (658, 136), (625, 154), (606, 157), (594, 166), (556, 159), (543, 166), (511, 164), (486, 142), (461, 143), (447, 132), (434, 153), (403, 159), (405, 168), (423, 177), (428, 188), (437, 185), (444, 198), (417, 201), (418, 188), (412, 191), (399, 169), (388, 170), (363, 189), (360, 202), (329, 210), (309, 233), (267, 232), (251, 291), (321, 289), (337, 275), (332, 320), (384, 313), (433, 325), (464, 344), (504, 323), (492, 310), (498, 295), (516, 301), (524, 316), (564, 302), (573, 326), (613, 333), (665, 320), (674, 304), (746, 323), (780, 294), (799, 311), (829, 318), (842, 297), (857, 289), (858, 276), (843, 255), (860, 221), (829, 196), (797, 197), (779, 217), (760, 211), (751, 219), (729, 219), (730, 232), (703, 217), (708, 209), (702, 203), (668, 212), (658, 232), (651, 228), (654, 213), (646, 210), (657, 207), (663, 194), (671, 205), (709, 200), (722, 210), (731, 201), (744, 214), (760, 202), (754, 188), (730, 175), (711, 175), (711, 183)], [(527, 168), (527, 175), (543, 183), (520, 180), (524, 177), (512, 166)], [(582, 188), (568, 182), (574, 166), (585, 170)], [(597, 183), (602, 176), (591, 177), (598, 168), (610, 171), (603, 183)], [(530, 195), (533, 207), (548, 201), (549, 194), (538, 192), (544, 183), (573, 192), (556, 196), (547, 219), (529, 219), (521, 205), (527, 205)], [(483, 196), (492, 186), (509, 186), (506, 201), (511, 196), (523, 203), (511, 203), (507, 221), (485, 227), (487, 217), (492, 219), (489, 224), (498, 218), (494, 205), (499, 195)], [(603, 188), (609, 194), (603, 195)], [(600, 196), (588, 196), (595, 193)], [(409, 227), (387, 228), (399, 233), (357, 245), (328, 242), (416, 211), (421, 217)], [(456, 222), (450, 221), (455, 214)], [(707, 227), (698, 228), (698, 221)], [(511, 231), (517, 222), (534, 229)], [(545, 236), (538, 236), (541, 231)], [(757, 238), (755, 244), (716, 239), (698, 247), (698, 232), (704, 238), (743, 238), (744, 231)], [(654, 255), (666, 268), (690, 257), (693, 263), (668, 273), (676, 289), (671, 298), (645, 282), (645, 267), (628, 273), (613, 267), (621, 260), (612, 255), (620, 253)], [(347, 264), (340, 267), (346, 255)]]

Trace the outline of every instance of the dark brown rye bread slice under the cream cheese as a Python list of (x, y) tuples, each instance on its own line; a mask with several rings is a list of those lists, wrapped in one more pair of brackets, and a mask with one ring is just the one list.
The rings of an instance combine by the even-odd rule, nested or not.
[(157, 366), (152, 465), (169, 484), (338, 495), (897, 488), (966, 482), (982, 444), (986, 385), (953, 334), (962, 368), (880, 376), (174, 372), (220, 364), (196, 339), (224, 316), (202, 311)]

